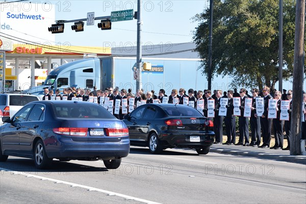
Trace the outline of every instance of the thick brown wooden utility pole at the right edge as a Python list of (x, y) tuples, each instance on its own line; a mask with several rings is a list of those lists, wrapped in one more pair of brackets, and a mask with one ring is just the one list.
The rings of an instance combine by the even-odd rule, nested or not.
[(304, 24), (305, 24), (305, 0), (296, 1), (295, 10), (295, 38), (294, 38), (294, 64), (293, 64), (293, 97), (291, 133), (292, 141), (290, 155), (300, 155), (301, 138), (301, 114), (302, 114), (302, 90), (304, 78)]

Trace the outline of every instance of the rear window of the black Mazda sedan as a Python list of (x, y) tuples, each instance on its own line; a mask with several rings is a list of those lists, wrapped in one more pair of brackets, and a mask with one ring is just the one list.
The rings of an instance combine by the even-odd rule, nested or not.
[(169, 116), (189, 116), (189, 117), (203, 117), (203, 115), (196, 109), (184, 106), (163, 107), (164, 111)]

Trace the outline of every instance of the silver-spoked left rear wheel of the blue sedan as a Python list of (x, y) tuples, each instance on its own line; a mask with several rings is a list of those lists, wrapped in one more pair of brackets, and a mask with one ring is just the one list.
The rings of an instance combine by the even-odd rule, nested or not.
[(34, 149), (34, 162), (38, 169), (46, 169), (51, 166), (52, 159), (49, 159), (46, 154), (45, 147), (41, 140), (37, 141)]

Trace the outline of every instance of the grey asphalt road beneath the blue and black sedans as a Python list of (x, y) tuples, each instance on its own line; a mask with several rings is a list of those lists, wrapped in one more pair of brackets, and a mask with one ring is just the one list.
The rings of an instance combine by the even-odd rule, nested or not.
[(194, 150), (132, 147), (121, 167), (102, 161), (0, 162), (0, 203), (305, 203), (306, 166)]

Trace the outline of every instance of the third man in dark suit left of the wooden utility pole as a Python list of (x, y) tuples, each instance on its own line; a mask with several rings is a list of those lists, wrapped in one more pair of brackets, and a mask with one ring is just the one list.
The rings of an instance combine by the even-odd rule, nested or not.
[(262, 135), (263, 135), (263, 144), (259, 146), (260, 148), (269, 148), (270, 147), (270, 141), (271, 141), (271, 123), (272, 119), (268, 119), (268, 108), (269, 108), (269, 99), (273, 99), (270, 95), (270, 88), (265, 86), (263, 89), (263, 95), (264, 95), (264, 113), (262, 117), (260, 118), (260, 125), (262, 129)]

